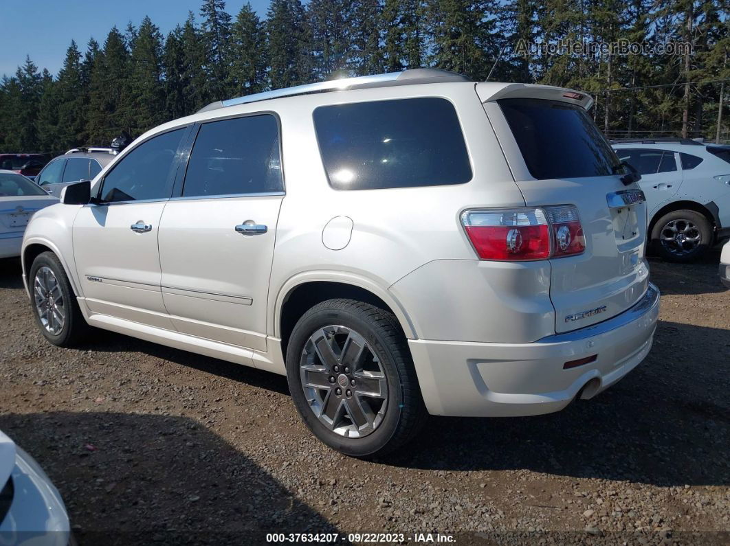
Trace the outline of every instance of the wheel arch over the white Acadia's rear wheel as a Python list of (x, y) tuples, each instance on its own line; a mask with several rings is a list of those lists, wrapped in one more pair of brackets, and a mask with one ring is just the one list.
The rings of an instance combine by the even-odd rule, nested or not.
[(281, 340), (282, 355), (286, 361), (286, 344), (296, 321), (320, 302), (337, 297), (363, 301), (389, 311), (396, 319), (407, 338), (417, 338), (415, 329), (401, 305), (385, 289), (369, 279), (337, 273), (305, 274), (290, 279), (279, 291), (274, 308), (273, 332)]

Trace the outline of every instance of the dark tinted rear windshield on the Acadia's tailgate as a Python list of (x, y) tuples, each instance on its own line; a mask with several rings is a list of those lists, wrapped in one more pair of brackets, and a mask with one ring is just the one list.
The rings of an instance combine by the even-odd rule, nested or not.
[(533, 178), (608, 176), (618, 157), (580, 106), (537, 98), (497, 101)]

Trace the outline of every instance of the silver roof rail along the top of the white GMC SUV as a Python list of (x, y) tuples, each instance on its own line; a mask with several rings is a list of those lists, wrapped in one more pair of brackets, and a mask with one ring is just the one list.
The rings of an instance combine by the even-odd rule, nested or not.
[(326, 82), (309, 83), (254, 93), (237, 98), (229, 98), (227, 101), (215, 101), (203, 106), (196, 113), (209, 112), (234, 106), (236, 104), (247, 104), (250, 102), (269, 101), (272, 98), (291, 97), (294, 95), (307, 95), (309, 93), (325, 93), (327, 91), (341, 91), (345, 89), (364, 89), (366, 87), (391, 87), (392, 85), (411, 85), (417, 83), (439, 83), (439, 82), (469, 82), (469, 78), (463, 74), (450, 72), (441, 69), (409, 69), (401, 72), (388, 72), (387, 74), (373, 74), (371, 76), (358, 76), (353, 78), (330, 79)]

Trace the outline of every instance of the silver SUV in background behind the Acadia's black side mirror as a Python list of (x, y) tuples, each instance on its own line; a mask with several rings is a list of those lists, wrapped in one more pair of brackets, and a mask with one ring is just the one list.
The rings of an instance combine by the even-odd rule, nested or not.
[(61, 197), (61, 190), (80, 180), (91, 180), (114, 159), (112, 148), (74, 148), (55, 157), (36, 176), (36, 182), (51, 195)]

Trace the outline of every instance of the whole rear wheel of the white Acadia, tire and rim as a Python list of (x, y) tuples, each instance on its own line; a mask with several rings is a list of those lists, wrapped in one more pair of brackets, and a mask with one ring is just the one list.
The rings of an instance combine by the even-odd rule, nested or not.
[(304, 313), (287, 357), (291, 397), (310, 431), (355, 457), (410, 441), (426, 418), (407, 341), (392, 313), (327, 300)]

